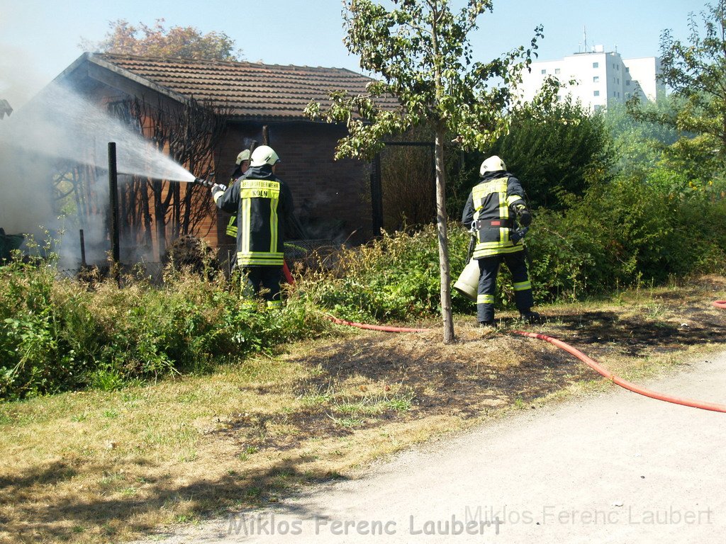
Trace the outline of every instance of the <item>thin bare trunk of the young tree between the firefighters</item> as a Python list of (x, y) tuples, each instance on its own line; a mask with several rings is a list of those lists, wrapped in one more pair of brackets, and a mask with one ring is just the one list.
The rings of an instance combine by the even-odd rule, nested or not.
[(449, 238), (446, 235), (446, 173), (444, 170), (444, 128), (436, 128), (436, 226), (439, 233), (439, 271), (441, 272), (441, 318), (444, 321), (444, 344), (454, 337), (452, 316), (451, 271), (449, 269)]

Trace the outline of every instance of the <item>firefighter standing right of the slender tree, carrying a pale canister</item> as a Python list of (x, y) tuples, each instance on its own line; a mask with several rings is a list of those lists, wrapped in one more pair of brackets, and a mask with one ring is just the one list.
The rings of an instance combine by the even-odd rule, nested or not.
[[(527, 274), (523, 237), (532, 221), (519, 180), (507, 172), (496, 155), (481, 163), (481, 181), (469, 194), (462, 223), (475, 237), (473, 259), (479, 265), (476, 316), (479, 326), (494, 325), (494, 293), (499, 265), (512, 273), (514, 300), (523, 321), (542, 319), (533, 312), (532, 287)], [(517, 223), (521, 226), (518, 228)]]

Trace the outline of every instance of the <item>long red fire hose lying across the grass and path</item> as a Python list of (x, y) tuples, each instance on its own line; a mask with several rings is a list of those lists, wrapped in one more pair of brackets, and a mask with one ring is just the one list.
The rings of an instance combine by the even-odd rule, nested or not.
[[(287, 278), (287, 283), (290, 285), (295, 283), (295, 280), (293, 279), (292, 274), (290, 274), (290, 269), (287, 268), (287, 263), (283, 265), (283, 269), (285, 271), (285, 277)], [(721, 308), (723, 310), (726, 310), (726, 300), (717, 300), (713, 302), (713, 305), (716, 308)], [(381, 325), (370, 325), (367, 323), (356, 323), (355, 321), (345, 321), (343, 319), (335, 318), (333, 316), (329, 316), (327, 314), (323, 314), (326, 319), (333, 321), (333, 323), (338, 323), (339, 325), (347, 325), (347, 326), (354, 326), (359, 329), (368, 329), (372, 331), (383, 331), (383, 332), (424, 332), (424, 331), (431, 331), (432, 329), (409, 329), (406, 327), (394, 327), (394, 326), (381, 326)], [(529, 338), (536, 338), (539, 340), (544, 340), (545, 342), (550, 342), (550, 344), (555, 345), (559, 347), (561, 350), (565, 350), (567, 353), (574, 355), (576, 358), (581, 360), (583, 363), (585, 363), (587, 366), (592, 368), (592, 370), (596, 371), (597, 374), (600, 374), (600, 376), (603, 376), (607, 379), (609, 379), (613, 384), (619, 385), (620, 387), (623, 387), (624, 389), (637, 393), (638, 395), (643, 395), (645, 397), (650, 397), (656, 400), (663, 400), (666, 403), (672, 403), (672, 404), (680, 404), (683, 406), (690, 406), (690, 408), (700, 408), (701, 410), (709, 410), (713, 412), (722, 412), (726, 413), (726, 405), (723, 404), (717, 404), (717, 403), (706, 403), (701, 400), (691, 400), (686, 399), (682, 397), (674, 397), (672, 395), (666, 395), (664, 393), (659, 393), (653, 390), (646, 389), (645, 387), (640, 387), (637, 384), (634, 384), (632, 382), (628, 382), (626, 379), (622, 379), (619, 376), (616, 376), (611, 371), (608, 371), (607, 368), (604, 368), (599, 363), (597, 363), (592, 358), (588, 357), (584, 353), (582, 353), (580, 350), (577, 350), (576, 348), (572, 347), (571, 345), (566, 344), (565, 342), (562, 342), (562, 340), (558, 340), (553, 337), (548, 337), (546, 334), (539, 334), (535, 332), (527, 332), (527, 331), (512, 331), (513, 334), (519, 334), (523, 337), (529, 337)]]

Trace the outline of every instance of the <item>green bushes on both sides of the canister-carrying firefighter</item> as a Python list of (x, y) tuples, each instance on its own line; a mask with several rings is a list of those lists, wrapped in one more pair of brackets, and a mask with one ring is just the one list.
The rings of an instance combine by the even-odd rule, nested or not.
[[(526, 237), (538, 303), (582, 300), (639, 281), (726, 271), (726, 200), (714, 191), (674, 194), (658, 181), (616, 178), (592, 185), (567, 210), (537, 210)], [(452, 282), (462, 271), (468, 232), (449, 226)], [(385, 234), (342, 250), (325, 272), (309, 274), (306, 297), (336, 316), (410, 321), (439, 315), (436, 228)], [(497, 279), (497, 305), (514, 307), (506, 267)], [(473, 304), (452, 292), (455, 312)]]

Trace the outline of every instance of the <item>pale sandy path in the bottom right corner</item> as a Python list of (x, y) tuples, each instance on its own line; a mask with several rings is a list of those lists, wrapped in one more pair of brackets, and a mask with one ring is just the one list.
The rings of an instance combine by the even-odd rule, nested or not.
[[(726, 403), (726, 353), (649, 385)], [(521, 411), (360, 479), (152, 541), (723, 543), (725, 428), (724, 413), (613, 390)]]

